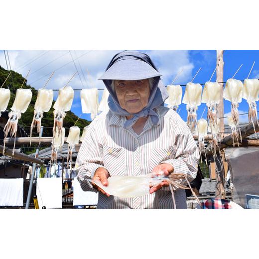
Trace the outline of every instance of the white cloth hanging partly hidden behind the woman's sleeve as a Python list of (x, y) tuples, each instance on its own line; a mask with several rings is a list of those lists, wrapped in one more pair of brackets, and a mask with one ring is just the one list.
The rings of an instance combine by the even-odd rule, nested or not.
[(74, 178), (74, 180), (72, 181), (72, 186), (73, 186), (73, 206), (97, 205), (98, 193), (83, 191), (77, 178)]

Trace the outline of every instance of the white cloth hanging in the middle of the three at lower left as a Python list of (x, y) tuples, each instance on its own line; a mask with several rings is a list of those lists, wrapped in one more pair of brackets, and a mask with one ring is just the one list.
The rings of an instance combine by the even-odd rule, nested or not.
[(62, 209), (62, 178), (38, 178), (36, 195), (40, 209)]

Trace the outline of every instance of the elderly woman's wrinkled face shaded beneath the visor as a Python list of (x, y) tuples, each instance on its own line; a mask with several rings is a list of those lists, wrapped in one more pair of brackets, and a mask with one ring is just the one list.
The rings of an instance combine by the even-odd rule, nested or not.
[(115, 80), (115, 92), (120, 106), (130, 114), (138, 113), (147, 106), (150, 95), (148, 79)]

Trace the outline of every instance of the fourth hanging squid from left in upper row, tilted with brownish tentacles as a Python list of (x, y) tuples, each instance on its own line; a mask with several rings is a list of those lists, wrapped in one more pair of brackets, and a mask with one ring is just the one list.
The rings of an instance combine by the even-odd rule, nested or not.
[[(58, 98), (53, 106), (54, 110), (54, 126), (53, 136), (56, 132), (60, 134), (63, 127), (63, 119), (66, 116), (65, 112), (70, 111), (74, 99), (74, 90), (71, 86), (62, 87), (58, 90)], [(57, 131), (56, 131), (57, 127)]]

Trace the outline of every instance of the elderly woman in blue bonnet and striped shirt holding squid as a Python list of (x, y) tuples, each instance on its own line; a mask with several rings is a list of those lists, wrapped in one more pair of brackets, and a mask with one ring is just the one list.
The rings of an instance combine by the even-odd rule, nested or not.
[[(100, 78), (110, 93), (110, 110), (90, 124), (75, 169), (83, 190), (99, 191), (98, 209), (171, 209), (173, 201), (167, 182), (151, 187), (148, 195), (120, 198), (87, 179), (107, 186), (114, 175), (163, 171), (184, 173), (191, 180), (196, 176), (197, 145), (180, 116), (163, 107), (168, 94), (160, 76), (149, 56), (123, 51)], [(175, 191), (175, 203), (186, 209), (184, 189)]]

